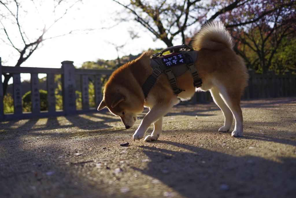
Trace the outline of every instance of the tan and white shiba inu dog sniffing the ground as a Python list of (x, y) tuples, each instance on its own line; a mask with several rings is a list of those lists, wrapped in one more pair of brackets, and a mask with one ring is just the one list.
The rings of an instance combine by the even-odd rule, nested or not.
[[(143, 84), (154, 72), (151, 64), (151, 51), (115, 70), (104, 88), (104, 96), (98, 110), (107, 107), (110, 112), (121, 118), (126, 129), (137, 120), (137, 114), (144, 107), (149, 112), (133, 134), (133, 140), (144, 137), (153, 123), (154, 130), (144, 141), (157, 140), (162, 132), (163, 116), (167, 114), (179, 99), (190, 99), (195, 91), (209, 90), (214, 102), (225, 117), (224, 126), (219, 132), (228, 132), (235, 119), (231, 135), (243, 135), (243, 116), (240, 98), (247, 86), (248, 74), (242, 59), (233, 51), (233, 41), (221, 22), (207, 23), (194, 36), (192, 47), (197, 55), (194, 66), (202, 80), (202, 86), (196, 88), (190, 71), (177, 76), (176, 83), (181, 93), (175, 94), (168, 76), (162, 72), (157, 76), (148, 94), (144, 94)], [(147, 96), (146, 96), (147, 95)]]

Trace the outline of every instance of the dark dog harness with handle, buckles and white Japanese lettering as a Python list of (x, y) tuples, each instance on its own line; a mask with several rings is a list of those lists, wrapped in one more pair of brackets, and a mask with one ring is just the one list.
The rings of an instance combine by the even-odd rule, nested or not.
[[(167, 51), (170, 51), (170, 54), (163, 56), (163, 53)], [(197, 52), (189, 45), (168, 47), (152, 55), (150, 59), (150, 66), (153, 69), (153, 73), (142, 85), (145, 98), (148, 96), (149, 91), (161, 73), (165, 73), (168, 76), (173, 93), (176, 96), (185, 90), (178, 88), (175, 77), (182, 75), (188, 70), (192, 74), (194, 87), (198, 88), (202, 86), (202, 80), (198, 76), (197, 69), (194, 66), (194, 62), (197, 59)]]

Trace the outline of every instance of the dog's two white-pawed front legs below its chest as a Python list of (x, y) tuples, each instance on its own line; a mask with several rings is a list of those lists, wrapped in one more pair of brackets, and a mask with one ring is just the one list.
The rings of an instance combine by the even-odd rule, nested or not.
[[(161, 133), (162, 129), (162, 117), (169, 112), (169, 110), (173, 107), (174, 103), (167, 104), (166, 106), (163, 104), (158, 104), (152, 107), (152, 109), (145, 115), (143, 118), (139, 128), (136, 130), (136, 132), (133, 134), (133, 140), (140, 140), (144, 137), (144, 134), (146, 133), (147, 129), (152, 123), (154, 124), (154, 131), (151, 134), (153, 140), (157, 140)], [(151, 137), (151, 136), (150, 136)], [(150, 137), (147, 137), (145, 141), (150, 141)]]

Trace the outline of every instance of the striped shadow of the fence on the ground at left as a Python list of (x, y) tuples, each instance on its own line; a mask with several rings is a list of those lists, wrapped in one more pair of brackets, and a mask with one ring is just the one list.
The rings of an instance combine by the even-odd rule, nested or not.
[(114, 128), (109, 124), (114, 122), (120, 123), (120, 118), (103, 110), (100, 113), (89, 112), (81, 115), (2, 121), (0, 134), (25, 132), (25, 134), (32, 135), (59, 134), (67, 136), (75, 133), (102, 133)]

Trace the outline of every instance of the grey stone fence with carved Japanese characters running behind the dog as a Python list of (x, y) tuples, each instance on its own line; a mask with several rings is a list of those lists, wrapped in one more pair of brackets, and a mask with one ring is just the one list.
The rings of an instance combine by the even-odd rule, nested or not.
[[(0, 59), (1, 60), (1, 59)], [(63, 61), (62, 67), (55, 68), (33, 68), (33, 67), (9, 67), (1, 66), (0, 74), (10, 73), (13, 75), (13, 100), (14, 113), (4, 113), (3, 104), (3, 85), (2, 75), (0, 75), (0, 120), (27, 119), (32, 117), (61, 116), (87, 111), (95, 111), (96, 108), (89, 107), (89, 77), (94, 79), (95, 105), (99, 105), (102, 99), (102, 75), (111, 75), (112, 70), (104, 69), (76, 69), (73, 61)], [(21, 73), (31, 75), (31, 101), (32, 112), (22, 111), (22, 86)], [(46, 74), (48, 111), (40, 110), (40, 93), (38, 74)], [(54, 75), (62, 75), (62, 99), (63, 110), (56, 110), (55, 82)], [(296, 75), (291, 72), (285, 72), (285, 75), (275, 75), (269, 72), (266, 75), (255, 74), (255, 71), (249, 70), (249, 85), (245, 89), (242, 99), (259, 99), (269, 97), (296, 96)], [(76, 108), (76, 94), (78, 85), (76, 77), (80, 78), (82, 109)], [(231, 80), (231, 79), (229, 79)], [(235, 83), (235, 82), (234, 82)], [(191, 103), (213, 101), (209, 92), (196, 93)]]

